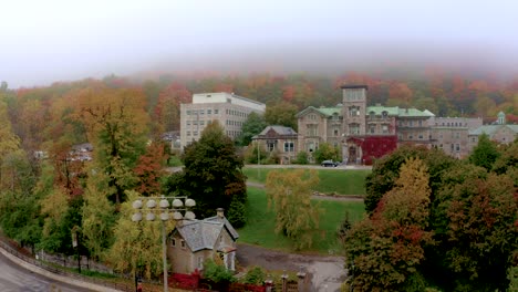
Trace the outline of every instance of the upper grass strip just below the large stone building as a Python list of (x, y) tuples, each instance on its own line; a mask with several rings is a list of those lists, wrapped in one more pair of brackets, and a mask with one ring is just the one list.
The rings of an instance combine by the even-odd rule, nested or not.
[[(265, 184), (268, 173), (272, 170), (293, 171), (294, 168), (242, 168), (249, 181)], [(336, 192), (340, 195), (365, 195), (365, 177), (369, 169), (317, 169), (320, 182), (317, 191)]]

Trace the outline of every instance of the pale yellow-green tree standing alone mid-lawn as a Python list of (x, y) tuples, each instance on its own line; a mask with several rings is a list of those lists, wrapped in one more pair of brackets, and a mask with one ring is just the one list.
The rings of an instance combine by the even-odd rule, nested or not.
[(311, 202), (318, 182), (314, 170), (274, 170), (267, 176), (268, 206), (276, 212), (276, 232), (290, 238), (298, 250), (311, 248), (319, 226), (321, 210)]

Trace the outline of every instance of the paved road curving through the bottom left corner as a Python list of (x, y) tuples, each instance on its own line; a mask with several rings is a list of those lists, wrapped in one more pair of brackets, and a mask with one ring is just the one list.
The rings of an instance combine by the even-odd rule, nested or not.
[(2, 292), (86, 292), (83, 288), (58, 282), (33, 273), (0, 253), (0, 291)]

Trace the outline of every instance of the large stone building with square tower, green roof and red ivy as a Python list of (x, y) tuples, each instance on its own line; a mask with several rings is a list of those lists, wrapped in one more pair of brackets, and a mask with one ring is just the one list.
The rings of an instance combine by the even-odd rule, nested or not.
[(342, 103), (300, 112), (299, 149), (312, 153), (321, 143), (341, 148), (348, 164), (370, 164), (403, 143), (431, 146), (429, 111), (367, 106), (366, 85), (342, 86)]

